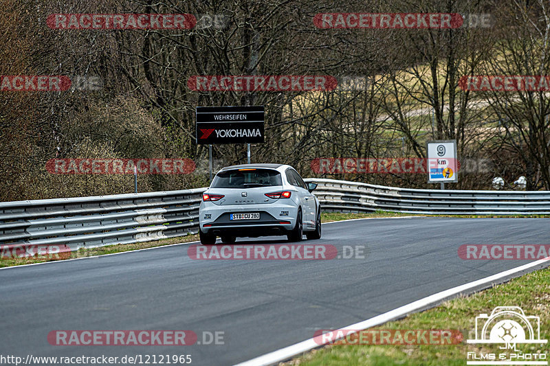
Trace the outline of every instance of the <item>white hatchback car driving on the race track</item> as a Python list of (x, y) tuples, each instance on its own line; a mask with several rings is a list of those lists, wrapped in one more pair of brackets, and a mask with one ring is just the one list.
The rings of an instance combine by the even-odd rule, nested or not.
[(199, 207), (202, 244), (216, 237), (231, 243), (236, 237), (286, 235), (289, 241), (321, 237), (321, 207), (311, 194), (316, 183), (304, 183), (292, 166), (232, 165), (220, 170)]

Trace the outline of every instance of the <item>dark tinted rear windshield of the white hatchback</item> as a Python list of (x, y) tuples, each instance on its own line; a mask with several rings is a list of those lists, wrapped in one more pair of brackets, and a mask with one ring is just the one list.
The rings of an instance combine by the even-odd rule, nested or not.
[(271, 169), (234, 169), (214, 176), (212, 188), (254, 188), (282, 185), (281, 173)]

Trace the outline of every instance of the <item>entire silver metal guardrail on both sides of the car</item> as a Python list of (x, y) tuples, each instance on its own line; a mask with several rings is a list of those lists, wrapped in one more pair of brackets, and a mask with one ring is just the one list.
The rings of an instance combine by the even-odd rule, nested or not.
[[(550, 214), (550, 192), (413, 190), (333, 179), (318, 183), (323, 211), (408, 214)], [(0, 203), (0, 256), (186, 236), (199, 229), (206, 188)]]

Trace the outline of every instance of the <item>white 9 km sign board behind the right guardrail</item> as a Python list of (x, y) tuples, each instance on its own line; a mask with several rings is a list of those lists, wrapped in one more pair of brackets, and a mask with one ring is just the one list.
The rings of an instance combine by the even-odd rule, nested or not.
[(459, 181), (459, 164), (456, 159), (456, 140), (434, 140), (426, 143), (428, 168), (428, 183), (441, 183), (441, 190), (445, 183)]

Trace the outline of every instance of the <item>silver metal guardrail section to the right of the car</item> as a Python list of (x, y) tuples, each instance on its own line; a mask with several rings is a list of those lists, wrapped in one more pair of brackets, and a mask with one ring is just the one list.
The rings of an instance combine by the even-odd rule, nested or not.
[(323, 211), (395, 211), (406, 214), (550, 214), (549, 191), (415, 190), (334, 179), (318, 183)]

